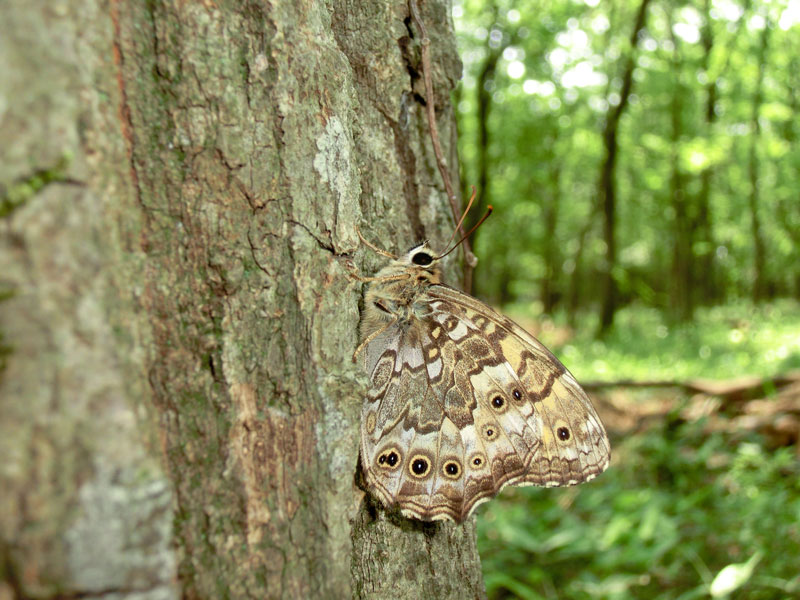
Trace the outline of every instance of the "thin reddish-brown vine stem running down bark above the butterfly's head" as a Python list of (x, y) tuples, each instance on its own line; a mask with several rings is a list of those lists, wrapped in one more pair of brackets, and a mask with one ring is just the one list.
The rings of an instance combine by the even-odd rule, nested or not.
[[(450, 202), (450, 208), (453, 211), (453, 219), (456, 223), (461, 218), (461, 211), (458, 206), (458, 197), (453, 191), (453, 184), (450, 180), (450, 172), (447, 169), (447, 163), (442, 154), (442, 146), (439, 142), (439, 129), (436, 126), (436, 106), (435, 96), (433, 95), (433, 78), (431, 76), (431, 55), (430, 45), (431, 40), (428, 37), (428, 31), (425, 29), (425, 24), (422, 22), (422, 17), (419, 14), (419, 6), (417, 0), (408, 0), (408, 6), (411, 11), (411, 17), (419, 29), (421, 40), (420, 47), (422, 49), (422, 78), (425, 82), (425, 109), (428, 115), (428, 130), (431, 134), (431, 142), (433, 143), (433, 152), (436, 155), (436, 166), (439, 168), (439, 174), (442, 176), (444, 188), (447, 192), (447, 200)], [(458, 227), (458, 232), (463, 236), (464, 228)], [(478, 264), (478, 259), (472, 253), (469, 246), (469, 240), (464, 240), (464, 288), (469, 292), (472, 287), (472, 270)]]

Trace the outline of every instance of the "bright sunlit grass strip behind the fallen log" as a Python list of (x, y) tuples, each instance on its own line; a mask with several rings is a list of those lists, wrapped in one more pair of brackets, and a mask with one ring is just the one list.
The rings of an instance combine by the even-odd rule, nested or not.
[(559, 343), (550, 321), (539, 338), (579, 380), (729, 379), (800, 369), (800, 304), (793, 301), (702, 309), (693, 323), (627, 307), (605, 339), (592, 339), (592, 330)]

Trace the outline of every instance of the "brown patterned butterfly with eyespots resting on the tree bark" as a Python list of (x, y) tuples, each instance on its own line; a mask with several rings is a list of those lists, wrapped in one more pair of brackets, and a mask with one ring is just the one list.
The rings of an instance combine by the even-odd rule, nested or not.
[(391, 258), (361, 278), (353, 355), (370, 379), (360, 459), (373, 496), (405, 517), (461, 523), (507, 485), (574, 485), (608, 467), (608, 436), (575, 378), (522, 327), (442, 283), (449, 252), (424, 242), (396, 257), (361, 239)]

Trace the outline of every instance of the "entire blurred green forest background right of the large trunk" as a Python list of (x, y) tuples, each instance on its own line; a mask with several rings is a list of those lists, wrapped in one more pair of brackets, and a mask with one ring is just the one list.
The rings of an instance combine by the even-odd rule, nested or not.
[(800, 594), (800, 3), (454, 17), (461, 181), (495, 207), (473, 291), (593, 391), (614, 447), (589, 485), (491, 503), (489, 596)]

